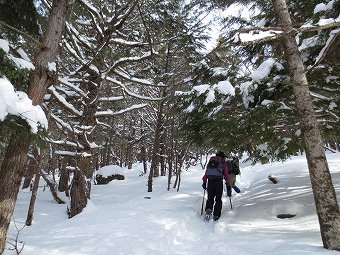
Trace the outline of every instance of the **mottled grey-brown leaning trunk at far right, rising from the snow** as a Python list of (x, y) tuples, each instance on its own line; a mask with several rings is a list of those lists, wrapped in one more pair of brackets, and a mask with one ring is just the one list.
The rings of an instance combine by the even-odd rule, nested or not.
[(327, 249), (340, 251), (339, 205), (310, 97), (304, 65), (286, 1), (272, 0), (272, 3), (279, 26), (286, 32), (283, 37), (285, 56), (293, 84), (323, 245)]

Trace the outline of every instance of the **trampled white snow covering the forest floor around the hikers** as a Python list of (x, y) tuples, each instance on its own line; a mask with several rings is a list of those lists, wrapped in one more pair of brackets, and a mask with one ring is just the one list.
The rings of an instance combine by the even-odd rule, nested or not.
[[(340, 153), (328, 154), (340, 202)], [(22, 255), (311, 255), (339, 254), (322, 247), (306, 160), (285, 163), (241, 164), (241, 194), (223, 197), (222, 217), (206, 223), (200, 215), (203, 170), (182, 174), (178, 192), (167, 191), (167, 178), (154, 181), (147, 192), (141, 166), (125, 170), (124, 181), (93, 186), (85, 211), (67, 218), (66, 205), (53, 202), (41, 187), (33, 225), (19, 234)], [(272, 174), (279, 180), (271, 183)], [(148, 199), (147, 197), (151, 197)], [(21, 190), (8, 239), (24, 226), (30, 193)], [(296, 214), (278, 219), (282, 213)], [(15, 224), (14, 224), (15, 222)], [(13, 241), (9, 240), (13, 243)], [(16, 254), (7, 244), (4, 255)], [(20, 247), (19, 247), (20, 248)]]

